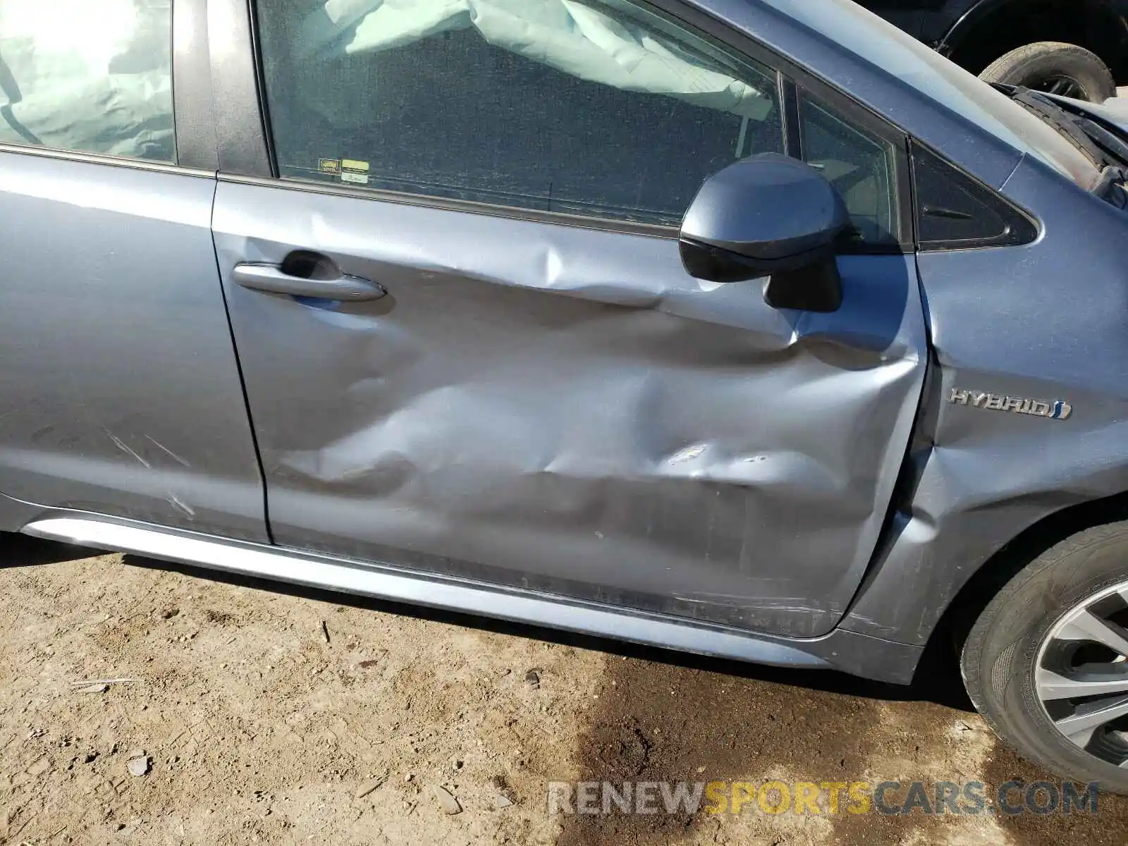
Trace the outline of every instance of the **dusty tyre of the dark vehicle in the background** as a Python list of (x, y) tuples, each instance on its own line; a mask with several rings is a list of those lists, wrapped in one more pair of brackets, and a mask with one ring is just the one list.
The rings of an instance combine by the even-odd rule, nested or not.
[(1056, 41), (1012, 50), (996, 59), (979, 78), (1092, 103), (1104, 103), (1117, 96), (1112, 71), (1096, 53)]

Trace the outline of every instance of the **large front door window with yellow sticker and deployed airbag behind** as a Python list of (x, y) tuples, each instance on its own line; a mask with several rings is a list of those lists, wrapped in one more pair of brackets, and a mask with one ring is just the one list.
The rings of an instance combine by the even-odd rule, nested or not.
[(259, 0), (281, 176), (677, 224), (775, 74), (626, 0)]

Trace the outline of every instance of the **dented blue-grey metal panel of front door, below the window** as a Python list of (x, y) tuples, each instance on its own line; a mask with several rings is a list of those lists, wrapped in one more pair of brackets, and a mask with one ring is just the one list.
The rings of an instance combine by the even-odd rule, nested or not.
[(389, 291), (326, 309), (229, 285), (279, 543), (794, 635), (836, 622), (919, 396), (910, 259), (845, 259), (840, 312), (785, 314), (761, 283), (690, 279), (671, 240), (315, 203), (271, 205), (272, 239), (217, 217), (221, 267), (307, 244)]

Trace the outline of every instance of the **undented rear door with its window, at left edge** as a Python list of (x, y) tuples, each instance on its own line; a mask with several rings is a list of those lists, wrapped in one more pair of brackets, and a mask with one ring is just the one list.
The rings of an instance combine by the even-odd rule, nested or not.
[(265, 540), (175, 1), (0, 0), (0, 493)]

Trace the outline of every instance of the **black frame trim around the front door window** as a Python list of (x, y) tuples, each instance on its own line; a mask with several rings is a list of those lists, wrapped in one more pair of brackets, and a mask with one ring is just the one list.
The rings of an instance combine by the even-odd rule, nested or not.
[[(202, 0), (193, 0), (201, 2)], [(898, 244), (860, 245), (852, 253), (911, 253), (914, 214), (908, 160), (908, 138), (885, 118), (872, 112), (831, 83), (807, 71), (766, 45), (733, 29), (722, 20), (696, 9), (682, 0), (633, 0), (641, 7), (671, 18), (675, 23), (717, 42), (738, 56), (746, 58), (776, 73), (779, 89), (787, 96), (781, 100), (783, 133), (787, 149), (797, 139), (797, 96), (795, 86), (809, 90), (860, 129), (890, 141), (895, 149), (898, 196)], [(175, 0), (184, 2), (184, 0)], [(283, 179), (277, 175), (270, 132), (268, 111), (263, 78), (263, 61), (255, 30), (257, 0), (208, 0), (211, 77), (214, 87), (214, 114), (219, 150), (218, 177), (221, 182), (270, 185), (318, 194), (358, 196), (377, 202), (402, 203), (448, 211), (464, 211), (515, 220), (557, 223), (584, 229), (676, 238), (678, 228), (636, 223), (611, 218), (598, 218), (564, 212), (500, 205), (486, 202), (449, 200), (424, 194), (372, 188), (354, 188), (328, 183)], [(235, 49), (241, 43), (244, 50)]]

